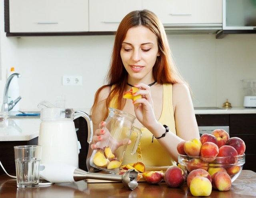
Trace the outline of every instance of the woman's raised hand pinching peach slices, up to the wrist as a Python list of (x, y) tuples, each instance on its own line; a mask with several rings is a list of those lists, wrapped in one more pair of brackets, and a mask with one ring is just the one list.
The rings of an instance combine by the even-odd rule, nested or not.
[(154, 104), (150, 94), (150, 86), (143, 83), (139, 83), (134, 86), (139, 90), (133, 95), (142, 96), (142, 98), (133, 102), (136, 118), (140, 121), (141, 124), (149, 129), (158, 122), (154, 113)]

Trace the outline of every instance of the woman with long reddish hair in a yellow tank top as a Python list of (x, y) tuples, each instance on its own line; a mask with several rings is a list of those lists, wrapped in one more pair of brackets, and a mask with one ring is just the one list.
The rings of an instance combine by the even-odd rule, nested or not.
[[(176, 164), (177, 144), (199, 138), (189, 88), (172, 62), (164, 27), (154, 13), (133, 11), (124, 17), (116, 32), (107, 80), (92, 106), (92, 150), (106, 132), (102, 120), (108, 116), (108, 107), (136, 116), (134, 126), (142, 130), (137, 153), (127, 154), (123, 164)], [(134, 102), (123, 98), (132, 86), (139, 88), (134, 96), (142, 95)]]

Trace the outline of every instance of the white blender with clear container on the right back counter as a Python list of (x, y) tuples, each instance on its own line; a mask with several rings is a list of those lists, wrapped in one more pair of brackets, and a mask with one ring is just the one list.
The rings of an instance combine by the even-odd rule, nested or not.
[(256, 108), (256, 80), (242, 80), (244, 88), (244, 107)]

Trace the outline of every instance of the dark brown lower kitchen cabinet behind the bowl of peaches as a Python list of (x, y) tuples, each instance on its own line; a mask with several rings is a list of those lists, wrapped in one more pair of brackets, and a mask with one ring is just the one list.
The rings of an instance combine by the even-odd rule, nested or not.
[(196, 115), (198, 126), (229, 126), (229, 136), (244, 140), (246, 145), (244, 170), (256, 171), (256, 114)]

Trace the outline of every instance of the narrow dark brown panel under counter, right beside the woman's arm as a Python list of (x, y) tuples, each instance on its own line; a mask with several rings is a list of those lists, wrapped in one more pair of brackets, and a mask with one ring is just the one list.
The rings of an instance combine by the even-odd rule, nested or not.
[(228, 114), (200, 114), (196, 115), (198, 126), (229, 126)]

